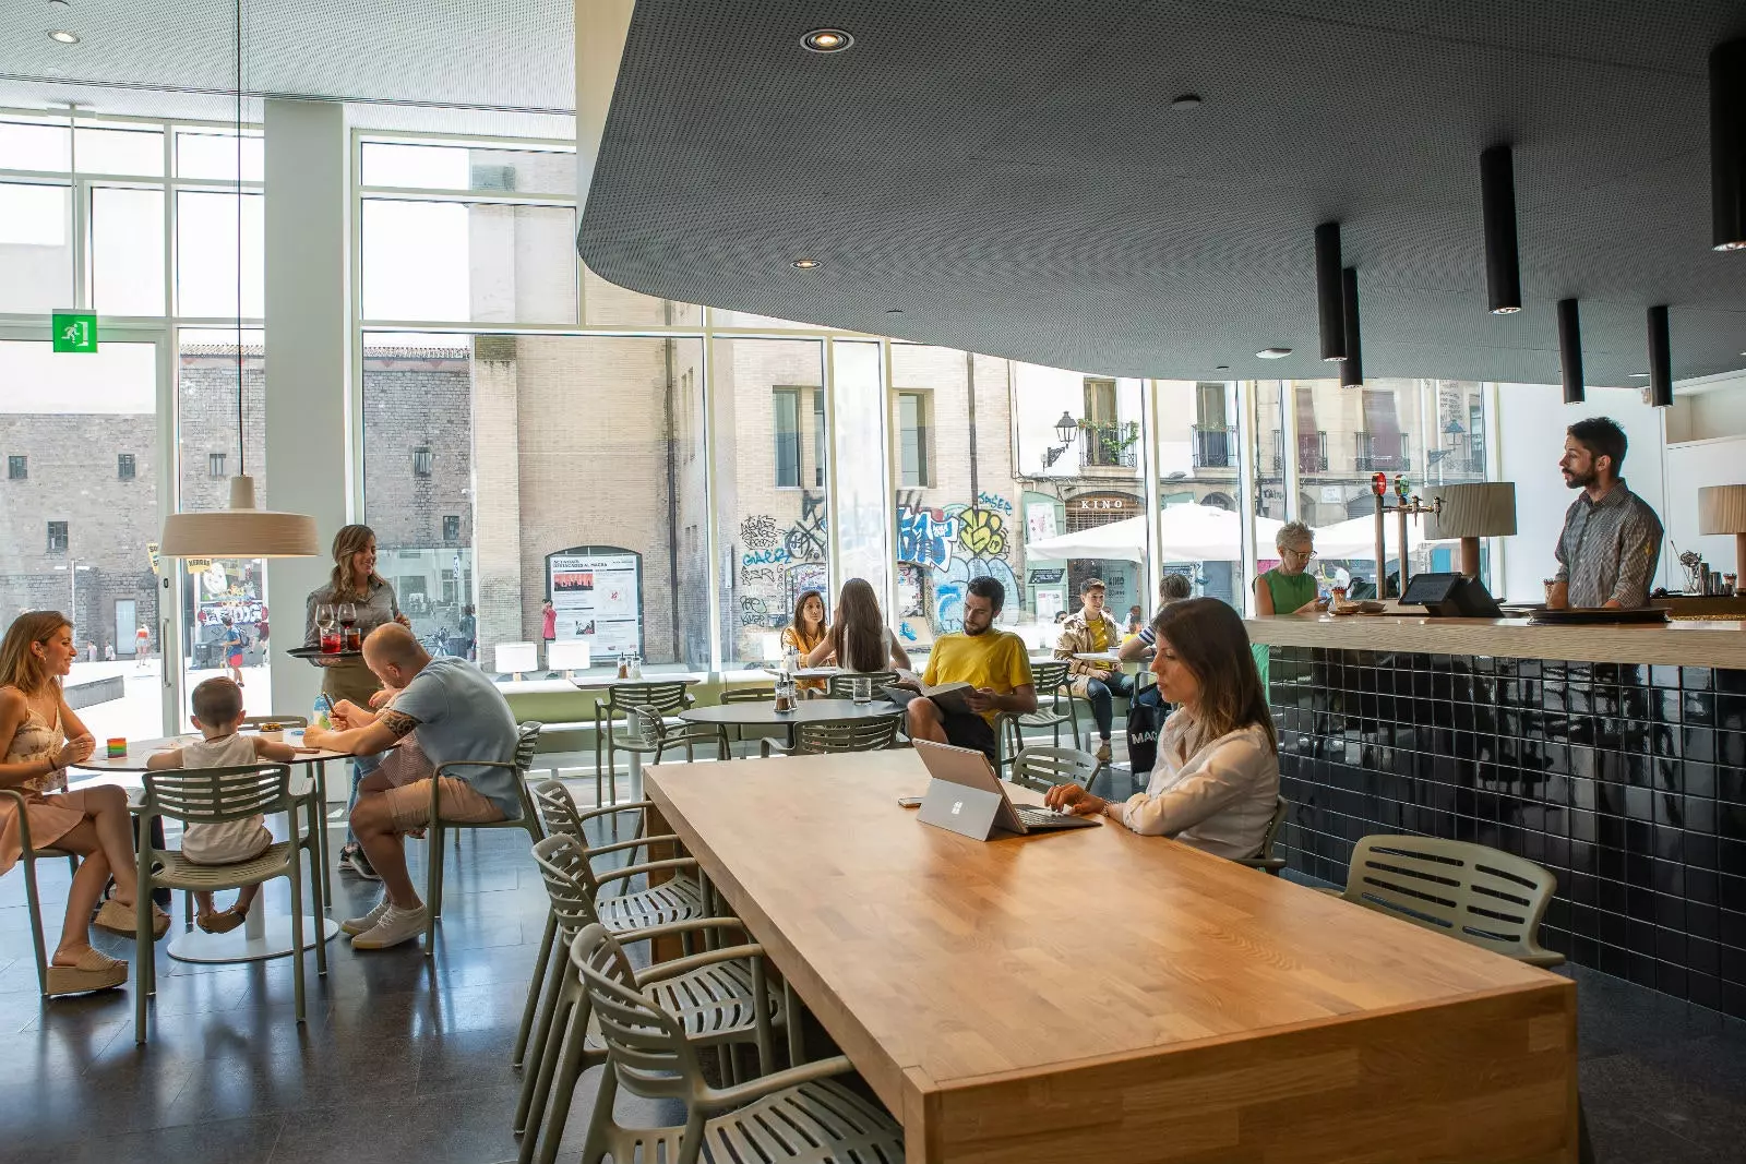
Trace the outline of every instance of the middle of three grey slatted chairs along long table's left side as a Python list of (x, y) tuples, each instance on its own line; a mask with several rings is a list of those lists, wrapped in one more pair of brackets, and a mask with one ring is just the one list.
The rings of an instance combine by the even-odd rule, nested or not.
[[(524, 1136), (520, 1164), (534, 1161), (536, 1145), (540, 1162), (552, 1164), (564, 1138), (564, 1124), (569, 1120), (569, 1103), (576, 1080), (588, 1068), (606, 1061), (606, 1047), (590, 1030), (588, 1000), (581, 989), (581, 979), (567, 960), (571, 942), (587, 927), (599, 925), (599, 916), (594, 913), (594, 902), (585, 885), (587, 857), (574, 839), (550, 836), (540, 841), (534, 845), (534, 860), (540, 862), (540, 873), (552, 899), (560, 962), (553, 967), (541, 1002), (540, 1024), (531, 1049), (533, 1065), (522, 1077), (520, 1099), (515, 1108), (515, 1133)], [(744, 930), (744, 925), (735, 918), (693, 918), (636, 932), (629, 937), (634, 941), (667, 935), (690, 939), (697, 934), (714, 937), (728, 928)], [(763, 972), (754, 960), (747, 960), (733, 949), (705, 956), (688, 955), (651, 965), (641, 970), (636, 979), (646, 996), (679, 1016), (686, 1037), (695, 1045), (716, 1047), (725, 1078), (733, 1078), (732, 1049), (740, 1044), (758, 1047), (760, 1072), (770, 1070), (772, 1028), (786, 1024), (784, 1007), (780, 995), (768, 983), (763, 983), (763, 1005), (758, 1005), (754, 989), (756, 983), (761, 983)], [(543, 1134), (529, 1134), (538, 1133), (541, 1117), (545, 1120)]]

